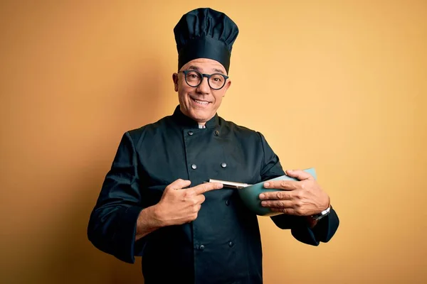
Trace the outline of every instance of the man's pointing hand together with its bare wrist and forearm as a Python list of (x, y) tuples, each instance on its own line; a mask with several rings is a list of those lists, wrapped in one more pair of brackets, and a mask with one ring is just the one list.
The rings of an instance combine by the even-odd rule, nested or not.
[(164, 189), (159, 203), (139, 213), (135, 240), (162, 226), (181, 225), (194, 221), (205, 200), (204, 193), (223, 187), (219, 182), (206, 182), (185, 188), (190, 184), (189, 180), (175, 180)]

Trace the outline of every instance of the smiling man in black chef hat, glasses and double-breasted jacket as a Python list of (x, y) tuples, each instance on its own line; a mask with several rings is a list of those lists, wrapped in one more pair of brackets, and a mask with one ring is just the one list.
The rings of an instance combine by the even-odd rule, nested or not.
[[(88, 237), (100, 250), (133, 263), (142, 256), (145, 283), (262, 283), (258, 219), (236, 190), (207, 180), (254, 184), (285, 175), (256, 131), (216, 114), (231, 85), (238, 27), (224, 13), (196, 9), (174, 28), (179, 106), (172, 116), (127, 131), (90, 216)], [(339, 220), (311, 175), (268, 182), (277, 192), (263, 206), (295, 239), (329, 241)]]

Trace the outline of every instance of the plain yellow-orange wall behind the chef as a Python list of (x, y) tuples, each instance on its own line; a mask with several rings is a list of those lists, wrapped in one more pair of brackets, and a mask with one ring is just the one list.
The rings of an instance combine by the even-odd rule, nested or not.
[(241, 31), (218, 114), (315, 167), (341, 219), (312, 247), (260, 218), (265, 283), (427, 282), (426, 1), (145, 2), (1, 1), (1, 283), (142, 283), (85, 230), (122, 133), (177, 104), (197, 6)]

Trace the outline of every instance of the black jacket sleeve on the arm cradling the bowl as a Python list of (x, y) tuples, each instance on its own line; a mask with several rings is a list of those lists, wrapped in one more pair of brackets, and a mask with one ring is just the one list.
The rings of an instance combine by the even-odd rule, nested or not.
[[(270, 148), (267, 141), (265, 141), (265, 137), (261, 133), (259, 133), (259, 135), (264, 153), (261, 179), (265, 181), (277, 178), (280, 175), (285, 175), (282, 165), (280, 165), (278, 155), (275, 155), (273, 149)], [(280, 214), (270, 218), (280, 229), (290, 229), (295, 239), (312, 246), (318, 246), (320, 242), (330, 241), (339, 226), (338, 215), (334, 209), (331, 209), (327, 217), (320, 219), (314, 228), (308, 226), (305, 217)]]

